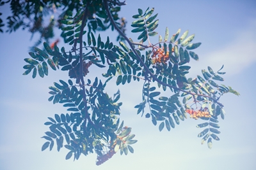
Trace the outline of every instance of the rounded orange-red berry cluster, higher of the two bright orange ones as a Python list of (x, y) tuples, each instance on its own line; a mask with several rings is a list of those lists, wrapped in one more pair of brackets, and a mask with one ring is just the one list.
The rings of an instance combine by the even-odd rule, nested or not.
[(164, 48), (153, 48), (153, 54), (152, 59), (153, 63), (165, 63), (169, 59), (169, 52), (167, 51), (166, 54), (164, 54)]

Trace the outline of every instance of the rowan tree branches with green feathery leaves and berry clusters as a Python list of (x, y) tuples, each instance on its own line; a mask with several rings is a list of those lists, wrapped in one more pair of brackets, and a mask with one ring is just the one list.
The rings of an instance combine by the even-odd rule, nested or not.
[[(212, 139), (220, 140), (218, 118), (225, 117), (220, 98), (227, 93), (236, 96), (239, 93), (218, 83), (224, 81), (223, 66), (218, 71), (207, 66), (196, 78), (187, 78), (191, 68), (189, 61), (198, 60), (194, 50), (201, 45), (192, 43), (195, 34), (181, 33), (178, 29), (169, 36), (166, 27), (164, 36), (159, 36), (158, 42), (151, 42), (150, 37), (158, 34), (157, 14), (154, 8), (138, 9), (131, 24), (131, 32), (138, 34), (136, 42), (126, 35), (126, 21), (118, 14), (125, 3), (118, 0), (0, 1), (1, 5), (5, 3), (10, 3), (12, 10), (12, 16), (7, 18), (7, 32), (21, 27), (32, 35), (35, 32), (41, 35), (29, 52), (30, 57), (24, 59), (27, 64), (23, 74), (44, 78), (51, 68), (67, 71), (70, 78), (49, 87), (49, 101), (63, 104), (68, 113), (48, 117), (45, 125), (49, 126), (49, 131), (42, 136), (46, 140), (42, 151), (52, 150), (54, 144), (58, 151), (64, 146), (68, 150), (66, 159), (73, 156), (74, 160), (82, 153), (96, 153), (97, 165), (119, 150), (121, 155), (133, 153), (131, 145), (137, 140), (131, 127), (125, 126), (119, 118), (122, 103), (117, 87), (128, 86), (131, 81), (143, 81), (141, 103), (134, 106), (137, 114), (150, 118), (159, 131), (164, 127), (168, 131), (174, 129), (189, 115), (195, 120), (205, 120), (196, 125), (204, 128), (198, 134), (202, 144), (207, 141), (207, 146), (212, 148)], [(61, 11), (60, 15), (56, 15), (56, 11)], [(0, 19), (0, 27), (3, 25)], [(61, 37), (70, 45), (68, 50), (57, 43), (49, 43), (54, 37), (54, 27), (61, 29)], [(99, 32), (108, 29), (118, 32), (118, 43), (109, 37), (102, 41)], [(41, 50), (38, 45), (42, 41), (45, 42)], [(99, 67), (99, 73), (101, 68), (108, 69), (102, 69), (93, 80), (86, 80), (93, 64)], [(116, 81), (113, 97), (105, 92), (109, 81)], [(170, 96), (163, 96), (161, 90), (169, 91)]]

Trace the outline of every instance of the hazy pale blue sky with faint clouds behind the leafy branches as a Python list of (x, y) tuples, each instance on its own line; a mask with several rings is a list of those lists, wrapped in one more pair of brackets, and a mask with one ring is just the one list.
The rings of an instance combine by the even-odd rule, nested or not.
[[(127, 19), (127, 36), (132, 34), (132, 15), (155, 8), (159, 13), (157, 32), (164, 36), (168, 27), (170, 35), (181, 29), (195, 34), (194, 43), (202, 45), (194, 50), (199, 61), (191, 60), (191, 77), (201, 74), (201, 69), (211, 66), (215, 71), (225, 65), (223, 84), (230, 85), (241, 96), (227, 94), (221, 97), (225, 105), (225, 120), (220, 120), (220, 141), (213, 140), (212, 149), (207, 143), (201, 145), (197, 135), (202, 131), (195, 126), (204, 121), (186, 119), (168, 132), (165, 128), (159, 132), (150, 119), (136, 115), (134, 106), (141, 103), (142, 82), (132, 81), (130, 84), (115, 87), (115, 78), (108, 84), (106, 92), (109, 96), (120, 89), (123, 105), (120, 119), (125, 125), (132, 127), (132, 134), (138, 143), (132, 145), (134, 153), (120, 156), (116, 153), (101, 166), (95, 165), (96, 154), (79, 160), (65, 160), (68, 150), (62, 148), (57, 152), (56, 146), (41, 152), (45, 143), (44, 132), (48, 131), (44, 122), (55, 113), (67, 113), (61, 104), (52, 104), (48, 87), (58, 80), (68, 80), (67, 72), (49, 70), (49, 76), (35, 79), (22, 76), (22, 68), (28, 58), (30, 41), (28, 31), (19, 30), (12, 34), (0, 34), (0, 169), (256, 169), (256, 115), (255, 115), (255, 83), (256, 83), (256, 1), (224, 0), (224, 1), (126, 1), (120, 16)], [(2, 19), (7, 17), (10, 9), (1, 6)], [(100, 32), (102, 41), (108, 35), (115, 41), (116, 34)], [(58, 38), (56, 33), (56, 38)], [(156, 43), (152, 39), (152, 43)], [(117, 44), (117, 43), (116, 43)], [(65, 46), (63, 41), (58, 46)], [(90, 67), (88, 78), (102, 73), (96, 67)], [(61, 73), (63, 72), (63, 73)], [(103, 78), (102, 78), (103, 79)], [(171, 94), (168, 94), (171, 96)]]

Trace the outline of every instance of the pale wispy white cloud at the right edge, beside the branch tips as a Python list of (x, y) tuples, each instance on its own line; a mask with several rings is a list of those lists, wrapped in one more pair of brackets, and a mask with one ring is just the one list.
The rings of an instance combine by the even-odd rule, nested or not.
[[(228, 74), (236, 74), (256, 63), (256, 20), (252, 20), (246, 29), (236, 32), (237, 38), (216, 52), (210, 52), (200, 62), (217, 69), (225, 65)], [(235, 36), (235, 35), (234, 35)]]

